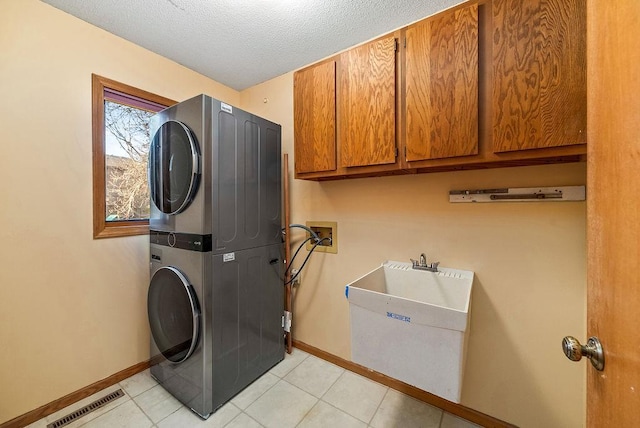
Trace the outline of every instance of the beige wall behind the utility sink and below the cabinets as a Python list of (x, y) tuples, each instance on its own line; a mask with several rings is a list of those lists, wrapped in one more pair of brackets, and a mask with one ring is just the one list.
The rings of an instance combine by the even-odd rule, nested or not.
[[(292, 88), (289, 73), (241, 93), (244, 108), (282, 124), (291, 177)], [(292, 222), (337, 221), (339, 235), (338, 254), (314, 253), (303, 271), (294, 338), (350, 359), (344, 286), (424, 252), (476, 273), (462, 404), (523, 427), (583, 426), (585, 368), (567, 361), (560, 342), (585, 335), (585, 203), (450, 204), (448, 192), (583, 185), (585, 172), (581, 163), (292, 180)]]

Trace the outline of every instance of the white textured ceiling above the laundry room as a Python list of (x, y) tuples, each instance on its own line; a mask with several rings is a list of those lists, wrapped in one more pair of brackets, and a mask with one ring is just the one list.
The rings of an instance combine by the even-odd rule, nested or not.
[(242, 90), (461, 0), (42, 0)]

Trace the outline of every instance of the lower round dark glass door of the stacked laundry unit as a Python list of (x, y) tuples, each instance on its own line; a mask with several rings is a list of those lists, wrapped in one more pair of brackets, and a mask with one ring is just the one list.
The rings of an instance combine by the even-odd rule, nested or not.
[(200, 309), (193, 287), (178, 269), (162, 267), (153, 274), (147, 309), (162, 355), (174, 363), (189, 358), (198, 343)]

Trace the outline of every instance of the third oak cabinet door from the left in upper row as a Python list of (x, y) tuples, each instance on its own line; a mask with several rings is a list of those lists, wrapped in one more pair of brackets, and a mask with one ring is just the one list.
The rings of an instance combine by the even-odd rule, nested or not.
[(478, 6), (406, 32), (406, 158), (478, 153)]

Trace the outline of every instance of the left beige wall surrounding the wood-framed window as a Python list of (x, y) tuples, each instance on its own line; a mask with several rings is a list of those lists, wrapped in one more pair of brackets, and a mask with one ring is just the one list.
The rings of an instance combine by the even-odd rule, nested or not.
[(1, 0), (0, 423), (149, 358), (147, 237), (92, 239), (91, 73), (239, 93), (36, 0)]

